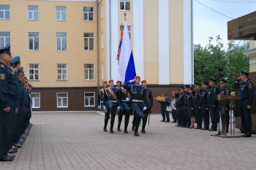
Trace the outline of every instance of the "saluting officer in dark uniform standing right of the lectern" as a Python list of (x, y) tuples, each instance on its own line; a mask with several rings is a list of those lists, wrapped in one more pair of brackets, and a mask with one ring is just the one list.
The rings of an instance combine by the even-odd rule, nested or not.
[(252, 117), (251, 108), (254, 97), (254, 89), (251, 80), (248, 79), (249, 73), (241, 72), (235, 82), (235, 88), (239, 88), (238, 96), (241, 97), (241, 121), (244, 130), (243, 137), (252, 136)]

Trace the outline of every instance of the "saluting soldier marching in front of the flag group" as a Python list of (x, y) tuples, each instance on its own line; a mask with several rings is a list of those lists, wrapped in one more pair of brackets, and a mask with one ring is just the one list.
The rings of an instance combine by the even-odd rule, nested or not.
[[(135, 85), (129, 85), (131, 82), (135, 82)], [(124, 83), (123, 87), (131, 94), (132, 108), (136, 115), (135, 136), (139, 136), (138, 128), (140, 125), (140, 119), (145, 117), (145, 115), (143, 115), (143, 111), (148, 109), (146, 89), (140, 85), (139, 76), (136, 76), (135, 80), (129, 80), (129, 83)]]

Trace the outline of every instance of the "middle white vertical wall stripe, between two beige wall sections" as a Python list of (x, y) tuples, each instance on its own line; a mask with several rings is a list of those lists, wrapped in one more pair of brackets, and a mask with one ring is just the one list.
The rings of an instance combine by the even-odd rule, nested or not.
[(158, 4), (159, 85), (169, 85), (169, 0)]

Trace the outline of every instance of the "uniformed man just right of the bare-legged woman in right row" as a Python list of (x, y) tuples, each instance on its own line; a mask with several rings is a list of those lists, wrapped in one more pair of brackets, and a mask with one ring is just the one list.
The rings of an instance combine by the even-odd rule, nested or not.
[(195, 129), (202, 128), (202, 115), (200, 109), (200, 83), (195, 83), (195, 100), (194, 100), (194, 109), (195, 109), (195, 121), (197, 122), (197, 127)]

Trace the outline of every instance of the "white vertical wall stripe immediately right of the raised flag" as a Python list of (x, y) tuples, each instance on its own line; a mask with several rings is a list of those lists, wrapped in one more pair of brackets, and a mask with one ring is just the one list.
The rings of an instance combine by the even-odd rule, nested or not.
[(143, 0), (133, 1), (133, 58), (136, 74), (144, 78), (144, 32), (143, 32)]

